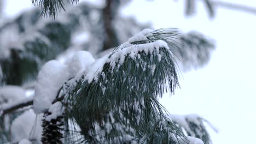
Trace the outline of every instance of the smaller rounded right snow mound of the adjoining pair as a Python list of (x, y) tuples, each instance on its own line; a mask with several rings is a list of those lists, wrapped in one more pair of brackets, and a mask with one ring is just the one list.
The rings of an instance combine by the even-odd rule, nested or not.
[(94, 57), (88, 51), (75, 52), (73, 57), (67, 62), (68, 71), (71, 77), (74, 77), (80, 70), (88, 69), (95, 62)]

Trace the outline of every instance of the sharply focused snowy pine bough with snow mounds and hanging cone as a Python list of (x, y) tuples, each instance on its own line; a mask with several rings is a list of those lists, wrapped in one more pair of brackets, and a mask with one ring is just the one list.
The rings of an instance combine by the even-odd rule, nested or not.
[[(182, 49), (182, 40), (175, 28), (144, 29), (96, 60), (78, 51), (65, 64), (45, 63), (38, 74), (33, 111), (11, 125), (26, 131), (21, 137), (16, 131), (15, 141), (211, 143), (205, 119), (171, 115), (159, 103), (165, 92), (173, 94), (179, 87), (175, 50)], [(23, 115), (34, 123), (22, 128), (19, 123), (27, 118)]]

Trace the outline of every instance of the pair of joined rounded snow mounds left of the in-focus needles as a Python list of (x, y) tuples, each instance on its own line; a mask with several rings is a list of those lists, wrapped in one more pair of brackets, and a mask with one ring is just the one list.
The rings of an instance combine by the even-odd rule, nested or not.
[(56, 60), (44, 64), (38, 73), (33, 99), (33, 109), (35, 113), (42, 113), (49, 109), (56, 98), (62, 84), (74, 77), (79, 71), (88, 69), (95, 62), (91, 53), (78, 51), (67, 62), (67, 65)]

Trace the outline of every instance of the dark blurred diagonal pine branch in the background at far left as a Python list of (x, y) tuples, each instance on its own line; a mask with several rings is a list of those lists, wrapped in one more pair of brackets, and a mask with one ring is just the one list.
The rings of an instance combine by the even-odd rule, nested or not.
[[(80, 11), (82, 9), (89, 8), (84, 4), (79, 5), (76, 10)], [(10, 57), (0, 59), (4, 74), (3, 83), (21, 85), (24, 81), (33, 80), (44, 62), (54, 59), (69, 47), (72, 32), (78, 27), (78, 23), (82, 23), (79, 18), (88, 15), (86, 11), (83, 12), (74, 13), (71, 10), (63, 15), (63, 17), (66, 16), (73, 21), (38, 21), (38, 23), (42, 22), (43, 24), (40, 24), (40, 27), (31, 28), (30, 32), (24, 34), (25, 37), (22, 35), (21, 42), (19, 41), (17, 45), (11, 47), (5, 47), (4, 49), (10, 50)], [(30, 11), (30, 13), (33, 13), (33, 11)], [(32, 17), (27, 17), (26, 14), (21, 15), (20, 22), (15, 20), (11, 24), (23, 25), (25, 19), (32, 19)], [(25, 24), (32, 25), (29, 22), (25, 22)]]

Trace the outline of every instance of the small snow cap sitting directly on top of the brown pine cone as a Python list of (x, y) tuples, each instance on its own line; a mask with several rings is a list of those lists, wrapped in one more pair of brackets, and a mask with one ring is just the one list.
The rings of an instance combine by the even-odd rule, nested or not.
[(50, 122), (51, 119), (57, 119), (57, 117), (61, 116), (63, 113), (61, 102), (57, 101), (56, 103), (51, 105), (48, 111), (51, 112), (51, 115), (45, 117), (45, 121)]

